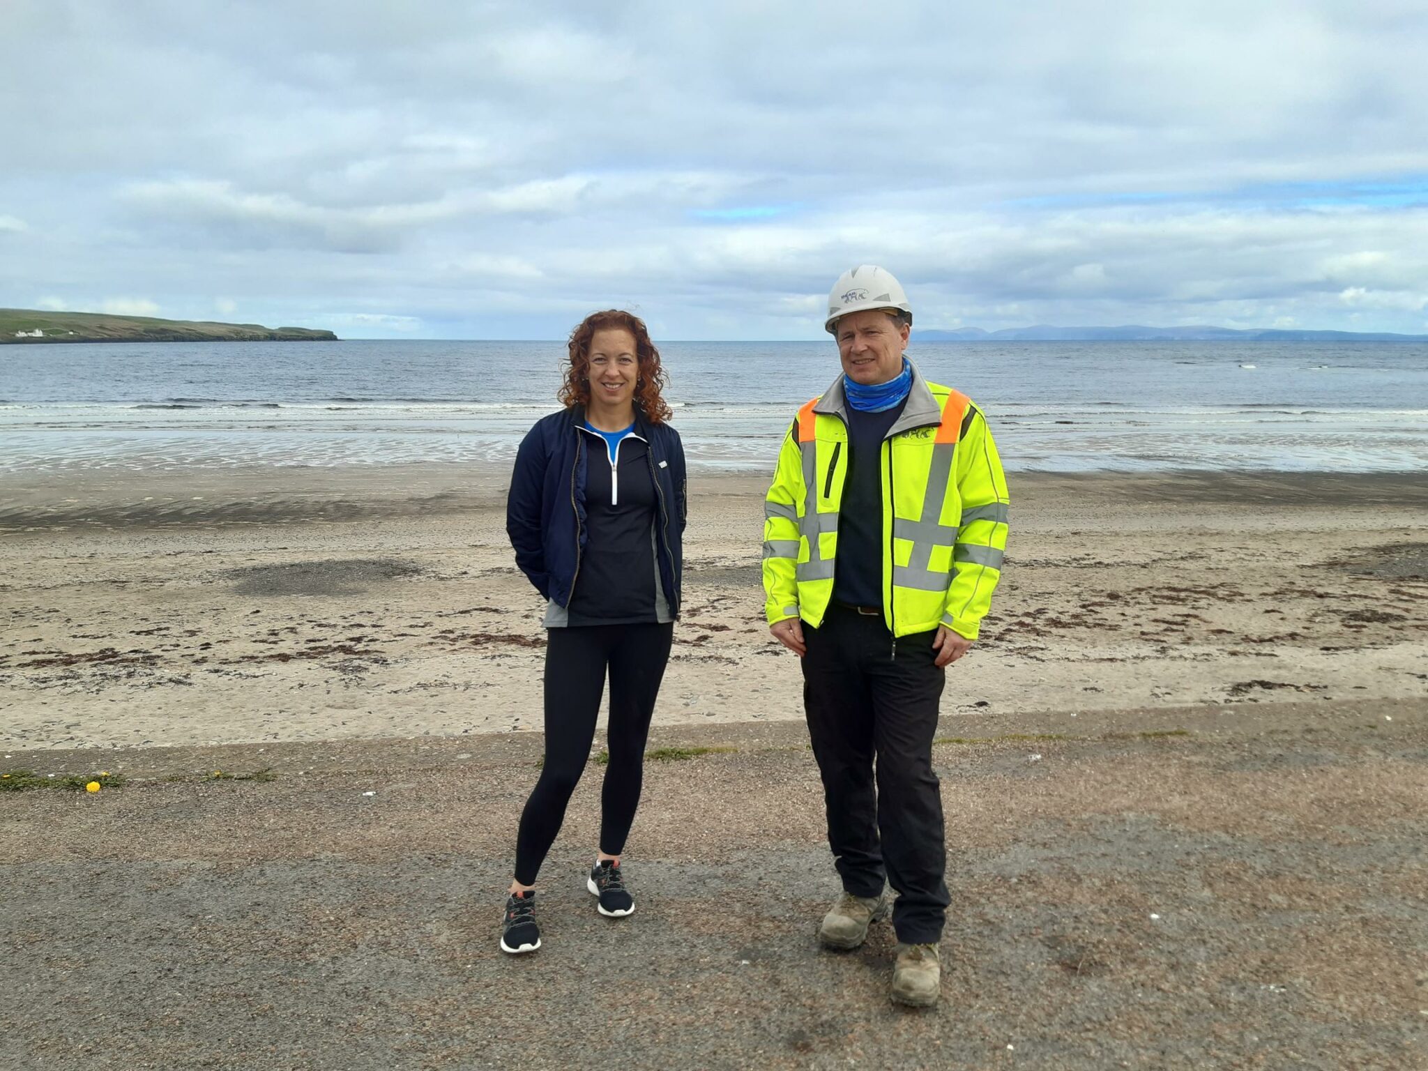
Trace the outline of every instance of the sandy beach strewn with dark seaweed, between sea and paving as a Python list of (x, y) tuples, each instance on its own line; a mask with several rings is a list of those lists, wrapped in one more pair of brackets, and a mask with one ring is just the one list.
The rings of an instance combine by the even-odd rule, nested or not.
[[(538, 731), (538, 597), (504, 470), (0, 480), (7, 748)], [(1428, 698), (1418, 476), (1012, 474), (944, 714)], [(764, 481), (691, 478), (657, 725), (801, 720), (763, 621)], [(1070, 724), (1070, 723), (1068, 723)]]

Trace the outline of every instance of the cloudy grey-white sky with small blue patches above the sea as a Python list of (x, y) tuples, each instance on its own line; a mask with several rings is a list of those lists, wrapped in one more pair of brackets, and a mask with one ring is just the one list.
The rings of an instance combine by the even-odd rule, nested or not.
[[(874, 17), (875, 16), (875, 17)], [(0, 0), (0, 307), (1428, 331), (1421, 0)]]

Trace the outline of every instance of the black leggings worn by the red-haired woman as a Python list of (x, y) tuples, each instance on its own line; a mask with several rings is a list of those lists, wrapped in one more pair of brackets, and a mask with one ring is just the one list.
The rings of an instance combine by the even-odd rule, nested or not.
[(534, 885), (575, 791), (610, 671), (610, 763), (600, 793), (600, 851), (624, 851), (644, 774), (644, 741), (660, 694), (673, 624), (551, 628), (545, 644), (545, 765), (521, 811), (516, 880)]

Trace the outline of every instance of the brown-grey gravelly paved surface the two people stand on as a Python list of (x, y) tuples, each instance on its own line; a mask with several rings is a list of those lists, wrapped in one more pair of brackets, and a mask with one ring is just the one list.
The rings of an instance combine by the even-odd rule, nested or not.
[(851, 954), (814, 941), (837, 887), (798, 725), (651, 741), (733, 750), (648, 763), (627, 920), (584, 891), (593, 764), (521, 958), (496, 941), (534, 734), (10, 751), (0, 770), (129, 780), (0, 793), (0, 1062), (1428, 1067), (1422, 703), (951, 737), (930, 1012), (888, 1002), (885, 925)]

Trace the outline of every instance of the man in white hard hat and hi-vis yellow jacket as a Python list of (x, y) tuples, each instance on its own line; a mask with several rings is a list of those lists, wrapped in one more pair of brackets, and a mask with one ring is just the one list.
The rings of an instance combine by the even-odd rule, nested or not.
[(824, 326), (843, 374), (778, 454), (765, 610), (801, 660), (843, 878), (818, 938), (857, 948), (891, 914), (892, 998), (925, 1007), (948, 904), (932, 737), (944, 667), (971, 648), (1001, 575), (1007, 481), (981, 411), (902, 356), (912, 310), (888, 271), (844, 273)]

